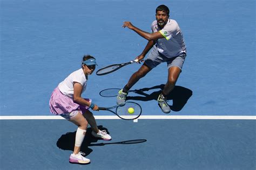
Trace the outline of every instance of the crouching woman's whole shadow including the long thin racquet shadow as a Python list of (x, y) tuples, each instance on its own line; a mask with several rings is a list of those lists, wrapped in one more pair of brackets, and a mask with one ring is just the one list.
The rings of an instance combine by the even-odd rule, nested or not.
[[(98, 126), (99, 130), (106, 130), (107, 133), (107, 128), (104, 128), (103, 126)], [(86, 135), (83, 141), (83, 144), (81, 146), (80, 151), (85, 153), (85, 156), (89, 155), (93, 150), (89, 148), (88, 146), (104, 146), (104, 145), (112, 145), (112, 144), (124, 144), (124, 145), (129, 145), (129, 144), (139, 144), (142, 142), (146, 142), (146, 139), (136, 139), (136, 140), (126, 140), (126, 141), (119, 141), (119, 142), (100, 142), (97, 144), (91, 144), (92, 142), (97, 142), (98, 139), (92, 137), (91, 135), (92, 128), (89, 127), (87, 128)], [(75, 132), (68, 132), (66, 134), (63, 134), (57, 141), (57, 146), (60, 149), (63, 150), (70, 150), (73, 151), (73, 148), (75, 146), (75, 139), (76, 139), (76, 131)], [(101, 140), (102, 141), (102, 140)]]

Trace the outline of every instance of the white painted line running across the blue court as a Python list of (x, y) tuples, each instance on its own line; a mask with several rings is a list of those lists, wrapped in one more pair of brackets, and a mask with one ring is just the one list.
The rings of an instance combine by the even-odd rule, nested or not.
[[(120, 119), (116, 115), (95, 115), (95, 119)], [(0, 120), (64, 119), (58, 115), (2, 115)], [(141, 115), (138, 119), (239, 119), (256, 120), (255, 115)], [(134, 122), (138, 121), (134, 120)]]

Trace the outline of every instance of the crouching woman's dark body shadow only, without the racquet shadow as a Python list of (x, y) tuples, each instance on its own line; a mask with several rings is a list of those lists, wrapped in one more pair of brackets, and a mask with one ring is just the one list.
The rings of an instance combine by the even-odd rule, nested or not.
[[(103, 126), (98, 126), (99, 130), (106, 130), (107, 133), (109, 133), (107, 131), (107, 128), (104, 128)], [(92, 128), (89, 127), (87, 128), (86, 130), (86, 135), (85, 135), (85, 138), (84, 138), (84, 141), (82, 143), (82, 146), (80, 148), (80, 151), (81, 152), (84, 152), (85, 153), (85, 156), (89, 155), (93, 150), (91, 148), (89, 148), (88, 146), (91, 145), (92, 142), (97, 142), (98, 139), (97, 138), (94, 138), (92, 135), (91, 135), (91, 132), (92, 132)], [(58, 148), (60, 149), (63, 149), (63, 150), (69, 150), (69, 151), (73, 151), (74, 149), (74, 146), (75, 146), (75, 139), (76, 139), (76, 131), (75, 132), (68, 132), (66, 134), (63, 134), (57, 141), (57, 146)]]

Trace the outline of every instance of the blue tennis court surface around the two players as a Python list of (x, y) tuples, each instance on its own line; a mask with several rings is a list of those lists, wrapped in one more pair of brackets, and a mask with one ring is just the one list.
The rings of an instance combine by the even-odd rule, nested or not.
[[(70, 164), (77, 127), (49, 111), (55, 87), (90, 54), (101, 67), (133, 60), (165, 4), (184, 34), (187, 57), (164, 114), (157, 97), (167, 81), (160, 64), (132, 87), (136, 121), (93, 112), (111, 141), (87, 130), (88, 165)], [(255, 1), (0, 0), (0, 169), (256, 169)], [(140, 64), (97, 76), (83, 97), (103, 107)], [(134, 144), (121, 141), (139, 140)]]

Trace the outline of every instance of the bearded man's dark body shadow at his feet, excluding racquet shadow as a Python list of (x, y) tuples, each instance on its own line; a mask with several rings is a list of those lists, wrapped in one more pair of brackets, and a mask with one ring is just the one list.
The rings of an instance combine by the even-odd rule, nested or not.
[[(151, 94), (147, 94), (144, 91), (151, 89), (160, 89), (159, 91), (154, 91)], [(150, 88), (144, 88), (140, 90), (134, 90), (133, 92), (136, 94), (140, 94), (142, 96), (127, 96), (126, 100), (140, 100), (140, 101), (149, 101), (149, 100), (157, 100), (159, 94), (164, 89), (164, 84), (153, 86)], [(187, 103), (188, 99), (192, 96), (192, 91), (185, 87), (175, 86), (171, 93), (167, 96), (167, 100), (172, 100), (172, 106), (170, 108), (172, 111), (180, 111), (185, 104)], [(129, 93), (130, 94), (130, 93)]]

